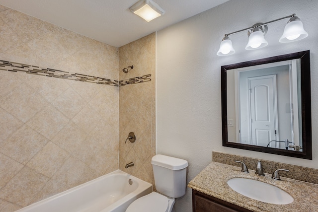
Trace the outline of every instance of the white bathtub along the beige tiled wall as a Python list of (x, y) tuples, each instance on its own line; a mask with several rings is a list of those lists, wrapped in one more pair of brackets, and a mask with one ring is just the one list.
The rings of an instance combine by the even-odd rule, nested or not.
[(152, 184), (116, 170), (16, 212), (125, 212), (152, 190)]

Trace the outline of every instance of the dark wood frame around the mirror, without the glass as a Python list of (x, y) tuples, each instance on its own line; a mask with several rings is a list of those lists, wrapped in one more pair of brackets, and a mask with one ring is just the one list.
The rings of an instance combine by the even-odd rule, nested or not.
[[(303, 151), (277, 149), (264, 146), (255, 146), (228, 141), (228, 112), (227, 112), (227, 70), (280, 61), (300, 59), (301, 63), (301, 100), (302, 100), (302, 141)], [(313, 159), (312, 156), (312, 110), (311, 110), (311, 77), (310, 77), (310, 51), (280, 55), (260, 60), (247, 61), (221, 67), (221, 101), (222, 101), (222, 140), (223, 146), (247, 149), (252, 151), (279, 154), (303, 159)]]

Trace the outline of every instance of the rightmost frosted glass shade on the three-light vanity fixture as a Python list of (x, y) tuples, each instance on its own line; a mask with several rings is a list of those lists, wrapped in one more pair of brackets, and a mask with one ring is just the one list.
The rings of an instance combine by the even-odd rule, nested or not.
[(299, 41), (308, 36), (308, 33), (304, 30), (302, 21), (294, 20), (286, 24), (284, 33), (280, 37), (279, 42), (289, 43)]

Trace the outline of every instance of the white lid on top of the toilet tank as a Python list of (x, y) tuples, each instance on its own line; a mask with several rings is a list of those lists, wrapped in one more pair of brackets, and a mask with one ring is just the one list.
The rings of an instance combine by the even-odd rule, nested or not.
[(188, 161), (162, 154), (157, 154), (153, 156), (151, 164), (168, 168), (171, 170), (180, 170), (188, 167)]

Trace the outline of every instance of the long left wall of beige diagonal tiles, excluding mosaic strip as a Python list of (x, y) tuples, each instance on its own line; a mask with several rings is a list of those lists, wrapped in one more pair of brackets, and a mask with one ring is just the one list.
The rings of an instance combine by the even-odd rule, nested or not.
[[(117, 48), (1, 5), (0, 32), (0, 60), (119, 77)], [(0, 70), (0, 211), (118, 169), (118, 98), (116, 86)]]

